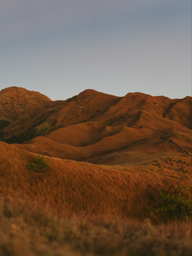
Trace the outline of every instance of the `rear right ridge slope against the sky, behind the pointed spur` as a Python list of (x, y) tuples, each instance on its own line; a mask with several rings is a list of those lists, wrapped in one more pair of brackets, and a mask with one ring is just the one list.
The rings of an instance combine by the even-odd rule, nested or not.
[(189, 96), (183, 99), (170, 99), (164, 96), (154, 97), (143, 93), (128, 93), (112, 106), (107, 114), (129, 118), (140, 110), (177, 121), (191, 129), (192, 100)]

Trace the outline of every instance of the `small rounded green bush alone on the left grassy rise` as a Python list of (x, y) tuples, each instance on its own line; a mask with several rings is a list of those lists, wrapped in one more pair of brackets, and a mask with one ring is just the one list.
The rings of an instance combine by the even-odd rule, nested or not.
[(50, 165), (50, 162), (47, 161), (43, 156), (35, 157), (35, 163), (31, 163), (27, 165), (29, 171), (36, 171), (36, 172), (48, 172), (48, 170), (53, 167)]

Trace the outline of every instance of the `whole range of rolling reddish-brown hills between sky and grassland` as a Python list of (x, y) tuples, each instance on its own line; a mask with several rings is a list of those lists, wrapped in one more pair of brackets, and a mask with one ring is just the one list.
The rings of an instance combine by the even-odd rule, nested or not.
[(191, 97), (116, 97), (91, 89), (52, 102), (38, 92), (6, 88), (0, 92), (0, 121), (10, 124), (1, 137), (34, 153), (100, 164), (191, 155), (191, 103)]

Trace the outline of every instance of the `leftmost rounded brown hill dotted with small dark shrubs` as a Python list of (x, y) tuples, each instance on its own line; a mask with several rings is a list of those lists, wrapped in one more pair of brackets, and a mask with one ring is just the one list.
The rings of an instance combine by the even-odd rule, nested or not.
[[(10, 87), (0, 91), (0, 122), (6, 120), (3, 131), (6, 136), (21, 134), (28, 127), (41, 122), (42, 117), (50, 115), (46, 110), (52, 101), (37, 91), (21, 87)], [(43, 115), (43, 116), (42, 116)], [(5, 136), (5, 137), (6, 137)]]

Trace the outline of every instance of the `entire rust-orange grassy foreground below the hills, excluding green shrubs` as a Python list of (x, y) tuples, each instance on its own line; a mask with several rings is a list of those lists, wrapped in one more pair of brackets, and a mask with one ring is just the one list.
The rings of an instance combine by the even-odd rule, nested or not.
[[(35, 155), (0, 142), (0, 255), (191, 255), (191, 222), (152, 213), (156, 197), (190, 188), (191, 159), (111, 168)], [(185, 221), (185, 222), (183, 222)]]

